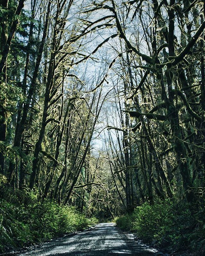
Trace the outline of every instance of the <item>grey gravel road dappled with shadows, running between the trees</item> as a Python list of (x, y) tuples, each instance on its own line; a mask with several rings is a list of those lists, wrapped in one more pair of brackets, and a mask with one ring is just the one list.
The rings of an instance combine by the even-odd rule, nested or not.
[(156, 256), (154, 249), (134, 239), (134, 235), (101, 223), (92, 229), (35, 246), (18, 256)]

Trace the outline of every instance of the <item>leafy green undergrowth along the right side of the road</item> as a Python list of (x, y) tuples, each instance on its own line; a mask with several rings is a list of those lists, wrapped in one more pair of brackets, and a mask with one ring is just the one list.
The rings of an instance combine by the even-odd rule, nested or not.
[[(191, 210), (190, 210), (191, 209)], [(190, 250), (204, 255), (205, 216), (187, 203), (171, 200), (144, 203), (132, 214), (114, 219), (117, 226), (137, 233), (140, 239), (172, 251)]]

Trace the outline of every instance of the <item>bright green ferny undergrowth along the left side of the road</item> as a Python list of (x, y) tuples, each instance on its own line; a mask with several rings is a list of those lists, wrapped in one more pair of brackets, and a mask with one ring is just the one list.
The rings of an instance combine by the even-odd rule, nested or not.
[[(6, 198), (6, 199), (5, 199)], [(51, 200), (40, 202), (32, 192), (18, 192), (0, 199), (0, 253), (47, 241), (97, 223), (73, 207)]]

